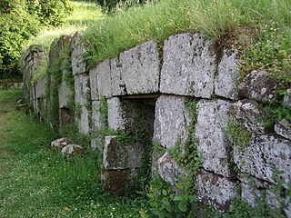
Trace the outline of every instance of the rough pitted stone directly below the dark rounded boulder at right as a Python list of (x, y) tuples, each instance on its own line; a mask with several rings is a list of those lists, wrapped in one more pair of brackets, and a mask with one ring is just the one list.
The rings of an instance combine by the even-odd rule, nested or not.
[(239, 124), (243, 124), (248, 131), (258, 134), (266, 134), (270, 130), (264, 123), (257, 121), (257, 118), (265, 115), (258, 107), (255, 100), (244, 99), (231, 106), (231, 114)]

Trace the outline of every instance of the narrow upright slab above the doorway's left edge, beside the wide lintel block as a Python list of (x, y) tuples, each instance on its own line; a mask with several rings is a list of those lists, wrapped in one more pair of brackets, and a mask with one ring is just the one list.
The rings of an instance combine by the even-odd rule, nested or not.
[[(112, 95), (125, 95), (127, 94), (125, 81), (123, 80), (123, 67), (119, 58), (110, 59), (111, 69), (111, 91)], [(144, 84), (143, 84), (144, 85)], [(146, 84), (145, 84), (146, 85)]]

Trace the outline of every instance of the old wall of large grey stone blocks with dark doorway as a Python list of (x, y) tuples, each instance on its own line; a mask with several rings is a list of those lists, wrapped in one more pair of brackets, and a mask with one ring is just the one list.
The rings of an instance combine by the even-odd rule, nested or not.
[[(257, 117), (265, 114), (259, 105), (277, 99), (276, 80), (264, 71), (254, 71), (238, 83), (239, 54), (228, 49), (217, 51), (213, 42), (198, 33), (170, 36), (161, 54), (156, 42), (149, 41), (87, 70), (81, 37), (76, 33), (69, 42), (73, 51), (75, 104), (79, 106), (75, 124), (80, 133), (88, 134), (108, 124), (112, 130), (133, 135), (135, 123), (143, 118), (149, 138), (165, 149), (164, 154), (152, 154), (152, 169), (171, 185), (186, 172), (168, 149), (179, 142), (183, 152), (184, 144), (194, 136), (198, 140), (197, 150), (203, 155), (194, 184), (201, 201), (229, 210), (234, 196), (240, 195), (247, 203), (256, 205), (256, 195), (266, 190), (268, 203), (275, 207), (279, 202), (271, 200), (274, 194), (269, 190), (276, 185), (274, 175), (278, 171), (284, 179), (280, 197), (286, 198), (280, 206), (290, 217), (286, 190), (291, 182), (291, 124), (283, 119), (266, 128), (257, 121)], [(25, 59), (25, 78), (35, 74), (32, 70), (35, 65), (28, 59)], [(37, 90), (44, 90), (41, 89), (44, 80), (37, 81), (35, 86), (29, 86), (25, 80), (26, 97), (38, 114), (43, 114), (43, 109), (35, 101), (41, 96)], [(68, 108), (65, 100), (69, 92), (63, 82), (58, 90), (62, 114), (62, 108)], [(290, 92), (287, 90), (284, 97), (286, 106), (291, 105)], [(196, 101), (194, 125), (193, 114), (186, 106), (193, 100)], [(44, 98), (46, 104), (49, 101), (48, 97)], [(108, 107), (106, 122), (99, 110), (104, 102)], [(243, 149), (234, 135), (229, 135), (229, 124), (237, 124), (244, 130), (238, 135), (249, 135)], [(97, 141), (92, 141), (93, 147)], [(152, 149), (146, 144), (135, 142), (124, 146), (116, 135), (107, 135), (103, 151), (105, 188), (123, 193), (148, 151)]]

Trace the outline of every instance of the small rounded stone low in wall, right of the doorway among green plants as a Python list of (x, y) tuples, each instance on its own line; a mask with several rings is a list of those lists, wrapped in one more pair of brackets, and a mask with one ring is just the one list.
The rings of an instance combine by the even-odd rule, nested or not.
[(166, 183), (171, 185), (178, 183), (180, 177), (184, 174), (168, 153), (157, 160), (157, 172)]

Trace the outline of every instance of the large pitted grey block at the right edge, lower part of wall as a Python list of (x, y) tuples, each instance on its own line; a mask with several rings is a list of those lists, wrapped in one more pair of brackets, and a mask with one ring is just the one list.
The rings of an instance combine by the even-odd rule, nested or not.
[(276, 183), (275, 171), (285, 180), (284, 186), (291, 182), (291, 142), (272, 134), (253, 134), (251, 144), (241, 151), (234, 148), (234, 161), (242, 173), (249, 173), (258, 179)]

